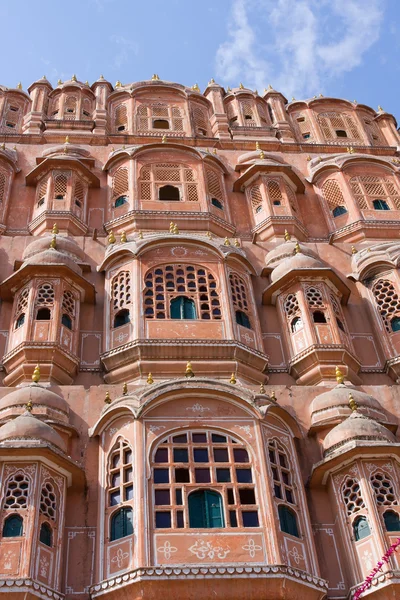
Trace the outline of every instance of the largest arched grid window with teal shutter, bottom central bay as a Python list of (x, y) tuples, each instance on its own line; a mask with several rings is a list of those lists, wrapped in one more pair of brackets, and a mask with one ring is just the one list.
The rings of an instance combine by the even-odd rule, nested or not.
[(156, 528), (259, 526), (250, 457), (229, 435), (180, 431), (162, 439), (152, 480)]

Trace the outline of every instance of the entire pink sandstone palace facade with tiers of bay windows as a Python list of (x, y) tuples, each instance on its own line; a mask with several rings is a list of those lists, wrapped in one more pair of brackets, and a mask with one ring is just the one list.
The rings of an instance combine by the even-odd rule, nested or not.
[(0, 598), (352, 597), (400, 536), (399, 156), (342, 99), (0, 86)]

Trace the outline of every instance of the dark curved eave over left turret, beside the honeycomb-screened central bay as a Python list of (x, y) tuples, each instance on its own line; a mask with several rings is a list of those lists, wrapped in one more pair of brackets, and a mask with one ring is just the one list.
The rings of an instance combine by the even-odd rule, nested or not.
[(54, 277), (54, 273), (57, 273), (58, 277), (65, 277), (72, 280), (76, 286), (81, 290), (82, 293), (82, 302), (88, 302), (89, 304), (95, 304), (96, 300), (96, 292), (94, 285), (89, 283), (87, 279), (76, 273), (68, 266), (64, 264), (28, 264), (7, 277), (0, 284), (0, 298), (4, 300), (12, 300), (14, 297), (14, 293), (20, 288), (20, 286), (24, 285), (25, 282), (30, 281), (33, 277), (42, 276), (42, 277)]

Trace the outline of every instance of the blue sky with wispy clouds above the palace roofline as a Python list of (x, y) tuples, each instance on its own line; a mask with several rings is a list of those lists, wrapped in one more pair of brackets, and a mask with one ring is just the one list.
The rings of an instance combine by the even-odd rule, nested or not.
[(8, 87), (158, 73), (203, 90), (214, 77), (380, 104), (400, 121), (400, 0), (19, 0), (0, 19)]

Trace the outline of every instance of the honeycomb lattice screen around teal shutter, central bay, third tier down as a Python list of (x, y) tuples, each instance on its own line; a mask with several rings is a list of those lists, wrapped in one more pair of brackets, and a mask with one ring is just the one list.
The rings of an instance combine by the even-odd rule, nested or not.
[(145, 276), (144, 312), (147, 319), (170, 319), (171, 301), (184, 296), (196, 306), (199, 319), (221, 319), (214, 275), (197, 265), (162, 265)]

